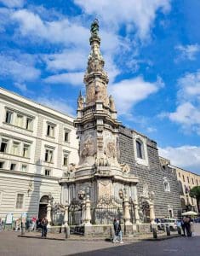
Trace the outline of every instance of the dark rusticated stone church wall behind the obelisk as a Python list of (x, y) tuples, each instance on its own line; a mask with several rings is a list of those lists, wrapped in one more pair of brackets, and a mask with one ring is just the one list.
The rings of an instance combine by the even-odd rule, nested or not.
[[(139, 177), (138, 197), (140, 198), (140, 195), (143, 194), (144, 184), (147, 184), (148, 190), (155, 193), (156, 218), (169, 217), (170, 209), (173, 211), (174, 217), (180, 216), (180, 191), (175, 170), (163, 169), (159, 161), (157, 143), (143, 135), (140, 136), (146, 138), (148, 166), (138, 164), (135, 159), (133, 133), (137, 133), (137, 131), (132, 131), (123, 125), (119, 127), (119, 162), (129, 164), (130, 172)], [(170, 191), (164, 190), (164, 177), (169, 181)]]

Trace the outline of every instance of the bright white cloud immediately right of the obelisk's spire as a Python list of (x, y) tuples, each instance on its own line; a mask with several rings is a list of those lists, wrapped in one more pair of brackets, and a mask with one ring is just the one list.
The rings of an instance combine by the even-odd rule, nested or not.
[(126, 79), (110, 85), (111, 95), (114, 96), (118, 113), (127, 114), (137, 102), (145, 100), (163, 86), (160, 78), (156, 82), (146, 82), (142, 77)]

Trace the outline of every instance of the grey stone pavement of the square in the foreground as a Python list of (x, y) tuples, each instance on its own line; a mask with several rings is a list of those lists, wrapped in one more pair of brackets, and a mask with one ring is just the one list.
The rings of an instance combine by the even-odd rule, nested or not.
[(196, 236), (163, 241), (55, 241), (18, 237), (13, 231), (0, 232), (0, 256), (65, 256), (65, 255), (134, 255), (134, 256), (197, 256), (200, 255), (200, 224)]

